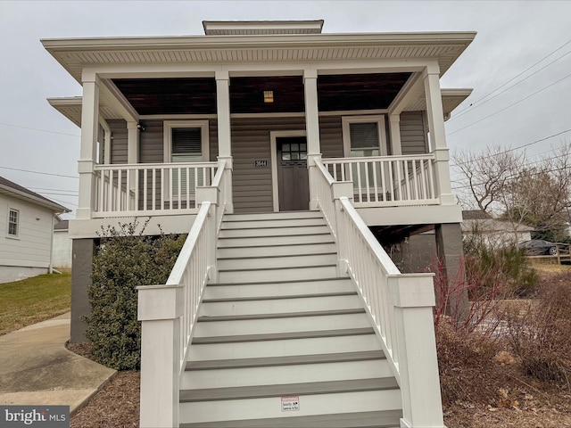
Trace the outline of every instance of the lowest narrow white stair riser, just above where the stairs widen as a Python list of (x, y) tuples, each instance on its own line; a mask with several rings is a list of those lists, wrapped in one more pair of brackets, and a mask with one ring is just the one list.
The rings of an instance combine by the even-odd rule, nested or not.
[(259, 269), (219, 269), (219, 282), (222, 284), (265, 283), (267, 281), (302, 281), (331, 278), (337, 274), (337, 265), (327, 263), (315, 266)]

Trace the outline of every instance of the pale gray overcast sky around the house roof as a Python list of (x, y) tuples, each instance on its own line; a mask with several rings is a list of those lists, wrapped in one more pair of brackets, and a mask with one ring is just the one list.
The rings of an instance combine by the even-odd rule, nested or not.
[(477, 31), (441, 83), (474, 88), (446, 124), (451, 152), (525, 145), (533, 162), (571, 141), (567, 0), (0, 0), (0, 175), (77, 207), (79, 128), (46, 98), (81, 95), (81, 86), (40, 38), (201, 35), (203, 20), (307, 19), (324, 19), (327, 33)]

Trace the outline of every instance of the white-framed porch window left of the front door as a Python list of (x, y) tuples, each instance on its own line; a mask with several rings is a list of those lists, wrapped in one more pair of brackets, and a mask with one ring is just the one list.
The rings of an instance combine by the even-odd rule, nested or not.
[[(164, 122), (165, 163), (194, 163), (210, 161), (208, 120), (170, 120)], [(170, 183), (170, 177), (167, 182)], [(194, 196), (197, 185), (204, 182), (203, 169), (173, 169), (172, 185), (167, 194)], [(180, 185), (179, 185), (180, 184)]]

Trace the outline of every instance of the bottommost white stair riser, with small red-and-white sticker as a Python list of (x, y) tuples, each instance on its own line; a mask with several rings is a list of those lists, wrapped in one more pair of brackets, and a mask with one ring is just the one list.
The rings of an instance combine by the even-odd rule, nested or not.
[[(358, 385), (355, 387), (359, 388)], [(323, 416), (324, 414), (332, 416), (335, 414), (384, 412), (401, 409), (401, 392), (398, 389), (316, 394), (302, 394), (300, 391), (287, 389), (282, 391), (280, 395), (261, 399), (222, 399), (180, 403), (180, 423), (225, 421), (238, 424), (240, 421), (249, 420), (249, 426), (267, 428), (272, 425), (256, 424), (256, 420), (282, 417), (288, 419), (292, 416)], [(282, 397), (298, 397), (299, 410), (282, 411)], [(344, 424), (342, 426), (352, 425)], [(398, 421), (396, 421), (395, 426), (399, 426)]]

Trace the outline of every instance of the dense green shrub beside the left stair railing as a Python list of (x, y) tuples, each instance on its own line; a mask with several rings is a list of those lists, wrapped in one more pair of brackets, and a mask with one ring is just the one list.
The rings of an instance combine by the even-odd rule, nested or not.
[[(147, 220), (148, 223), (148, 220)], [(185, 235), (137, 235), (138, 221), (103, 228), (87, 294), (91, 315), (87, 340), (101, 364), (117, 370), (140, 366), (141, 325), (137, 286), (164, 284), (185, 242)]]

